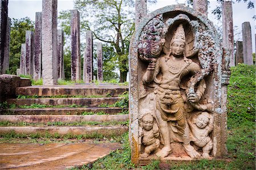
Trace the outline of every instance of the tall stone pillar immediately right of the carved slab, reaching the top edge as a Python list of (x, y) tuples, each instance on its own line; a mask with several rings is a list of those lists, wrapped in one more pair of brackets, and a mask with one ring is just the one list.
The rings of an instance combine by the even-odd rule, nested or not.
[(230, 50), (230, 67), (234, 66), (234, 31), (233, 31), (232, 1), (222, 3), (222, 43)]

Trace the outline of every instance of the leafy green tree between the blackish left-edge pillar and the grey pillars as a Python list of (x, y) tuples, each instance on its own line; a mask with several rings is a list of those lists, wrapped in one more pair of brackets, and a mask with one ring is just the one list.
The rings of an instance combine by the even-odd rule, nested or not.
[(34, 31), (30, 18), (11, 19), (9, 73), (16, 74), (20, 64), (21, 44), (25, 43), (26, 30)]

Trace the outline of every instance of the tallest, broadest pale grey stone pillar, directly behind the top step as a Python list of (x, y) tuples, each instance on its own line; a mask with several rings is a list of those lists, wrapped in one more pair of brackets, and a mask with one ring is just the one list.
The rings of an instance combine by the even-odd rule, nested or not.
[(43, 0), (42, 76), (43, 85), (57, 84), (57, 0)]

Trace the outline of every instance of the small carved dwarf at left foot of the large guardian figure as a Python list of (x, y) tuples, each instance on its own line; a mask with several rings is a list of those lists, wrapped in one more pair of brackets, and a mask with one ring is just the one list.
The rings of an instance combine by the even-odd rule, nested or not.
[(148, 157), (151, 152), (159, 148), (159, 129), (150, 113), (142, 117), (141, 126), (141, 142), (145, 146), (141, 157)]

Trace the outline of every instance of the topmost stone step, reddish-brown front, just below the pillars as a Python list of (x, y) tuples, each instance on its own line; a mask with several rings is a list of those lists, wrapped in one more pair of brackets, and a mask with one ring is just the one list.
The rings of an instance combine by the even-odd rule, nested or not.
[(16, 95), (24, 96), (118, 96), (128, 91), (128, 86), (119, 85), (43, 85), (16, 88)]

